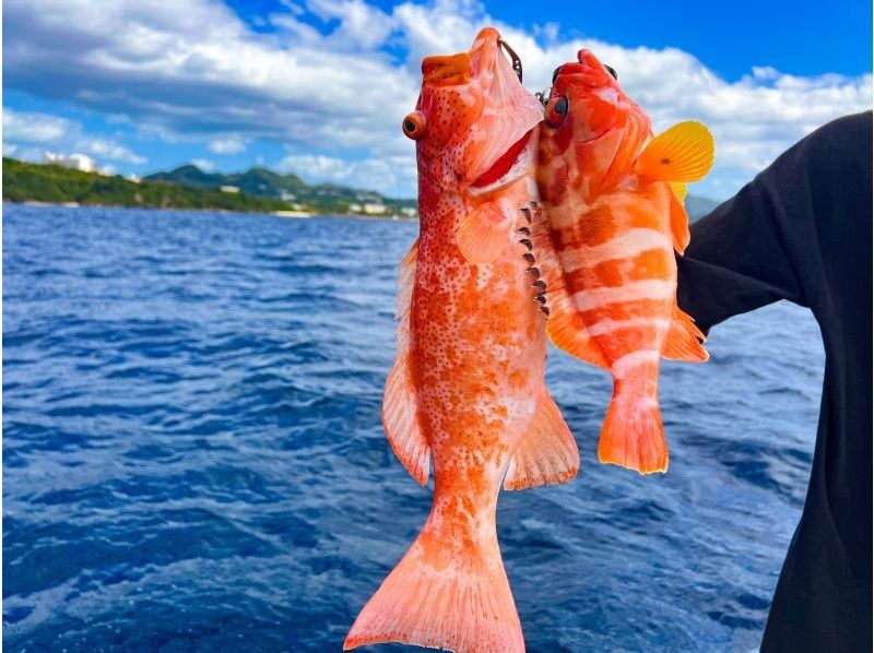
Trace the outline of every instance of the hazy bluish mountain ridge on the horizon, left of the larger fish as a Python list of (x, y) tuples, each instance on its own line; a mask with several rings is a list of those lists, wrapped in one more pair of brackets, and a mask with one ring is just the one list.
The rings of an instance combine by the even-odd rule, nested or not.
[[(236, 187), (240, 192), (272, 200), (283, 200), (300, 204), (314, 213), (355, 213), (350, 206), (357, 204), (382, 204), (389, 213), (401, 209), (415, 209), (414, 199), (387, 198), (373, 190), (362, 190), (334, 183), (310, 185), (297, 175), (280, 175), (273, 170), (256, 166), (245, 173), (206, 173), (198, 166), (188, 164), (169, 173), (155, 173), (143, 177), (145, 181), (166, 181), (189, 188)], [(362, 210), (358, 209), (358, 212)]]

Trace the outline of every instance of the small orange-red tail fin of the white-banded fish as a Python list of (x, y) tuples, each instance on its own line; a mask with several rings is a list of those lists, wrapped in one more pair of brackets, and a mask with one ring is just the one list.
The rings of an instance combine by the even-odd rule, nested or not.
[(647, 391), (639, 384), (614, 380), (598, 460), (640, 474), (668, 471), (668, 443), (654, 387)]

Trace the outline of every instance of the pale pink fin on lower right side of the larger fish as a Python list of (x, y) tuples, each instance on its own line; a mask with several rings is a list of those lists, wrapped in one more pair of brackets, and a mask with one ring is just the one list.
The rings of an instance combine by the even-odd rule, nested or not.
[(546, 392), (541, 395), (531, 429), (510, 459), (504, 489), (525, 489), (566, 483), (580, 468), (577, 441), (558, 406)]

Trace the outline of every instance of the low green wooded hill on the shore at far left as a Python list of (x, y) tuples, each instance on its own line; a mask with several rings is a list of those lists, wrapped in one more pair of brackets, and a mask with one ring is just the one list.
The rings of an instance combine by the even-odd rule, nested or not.
[(12, 202), (76, 202), (109, 206), (154, 209), (224, 209), (273, 212), (292, 209), (291, 203), (247, 193), (211, 188), (187, 188), (178, 183), (135, 183), (119, 175), (82, 173), (59, 165), (31, 164), (3, 157), (3, 200)]

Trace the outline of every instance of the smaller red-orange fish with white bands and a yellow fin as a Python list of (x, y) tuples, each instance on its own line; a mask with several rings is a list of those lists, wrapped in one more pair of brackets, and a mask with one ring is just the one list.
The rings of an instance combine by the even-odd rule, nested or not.
[[(615, 74), (615, 73), (614, 73)], [(612, 69), (580, 50), (556, 70), (540, 134), (538, 183), (555, 264), (545, 265), (547, 332), (613, 376), (598, 456), (664, 472), (659, 361), (707, 360), (704, 334), (676, 305), (676, 261), (689, 241), (685, 183), (713, 162), (699, 122), (658, 136)]]

